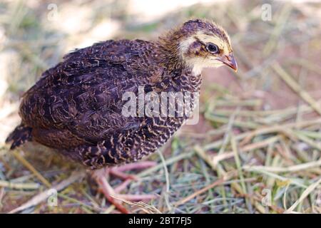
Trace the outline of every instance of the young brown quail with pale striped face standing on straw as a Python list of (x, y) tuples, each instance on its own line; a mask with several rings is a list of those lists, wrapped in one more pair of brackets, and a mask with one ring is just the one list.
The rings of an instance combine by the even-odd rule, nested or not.
[[(21, 123), (6, 142), (11, 150), (37, 142), (81, 163), (105, 197), (126, 213), (119, 198), (155, 196), (119, 194), (136, 178), (123, 171), (155, 165), (138, 160), (164, 145), (190, 116), (136, 115), (139, 108), (123, 115), (124, 93), (199, 93), (202, 69), (220, 66), (238, 68), (230, 36), (208, 19), (185, 21), (153, 41), (108, 40), (76, 49), (22, 95)], [(190, 103), (193, 110), (196, 98)], [(123, 187), (114, 190), (108, 174), (123, 178)]]

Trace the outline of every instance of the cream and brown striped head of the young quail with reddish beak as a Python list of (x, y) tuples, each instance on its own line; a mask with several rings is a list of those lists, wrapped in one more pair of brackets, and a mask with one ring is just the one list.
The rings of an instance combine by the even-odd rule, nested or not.
[(203, 68), (229, 66), (237, 71), (230, 36), (213, 21), (194, 19), (170, 33), (178, 56), (195, 73)]

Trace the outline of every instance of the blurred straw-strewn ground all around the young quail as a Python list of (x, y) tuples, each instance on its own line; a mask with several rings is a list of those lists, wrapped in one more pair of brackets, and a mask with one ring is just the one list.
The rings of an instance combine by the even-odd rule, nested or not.
[[(126, 207), (321, 212), (321, 3), (245, 0), (1, 0), (0, 212), (117, 212), (90, 178), (73, 172), (81, 167), (39, 145), (9, 151), (4, 140), (20, 122), (19, 98), (74, 48), (155, 39), (190, 18), (228, 31), (239, 70), (203, 71), (198, 125), (184, 126), (162, 153), (146, 157), (158, 165), (125, 190), (159, 197)], [(48, 203), (51, 187), (57, 207)]]

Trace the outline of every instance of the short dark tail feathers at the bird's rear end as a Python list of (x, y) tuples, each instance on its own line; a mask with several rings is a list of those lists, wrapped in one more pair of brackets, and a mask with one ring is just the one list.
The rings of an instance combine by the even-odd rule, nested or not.
[(24, 142), (31, 141), (31, 130), (32, 128), (26, 127), (23, 124), (16, 126), (14, 131), (6, 138), (6, 143), (12, 141), (10, 149), (13, 150), (15, 147), (24, 144)]

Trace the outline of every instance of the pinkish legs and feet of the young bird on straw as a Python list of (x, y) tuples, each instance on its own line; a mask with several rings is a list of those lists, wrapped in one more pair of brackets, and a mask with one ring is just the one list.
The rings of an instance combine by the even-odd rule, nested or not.
[[(93, 177), (95, 178), (96, 182), (98, 183), (101, 192), (105, 195), (106, 199), (109, 202), (115, 205), (115, 207), (122, 213), (127, 214), (128, 210), (123, 207), (121, 204), (121, 199), (129, 200), (129, 201), (141, 201), (141, 200), (150, 200), (154, 199), (156, 195), (123, 195), (119, 194), (122, 190), (124, 190), (128, 184), (132, 180), (137, 180), (138, 177), (135, 175), (128, 175), (124, 173), (124, 171), (128, 170), (137, 170), (137, 169), (144, 169), (147, 167), (151, 167), (156, 165), (156, 162), (137, 162), (132, 164), (123, 165), (120, 167), (109, 167), (102, 170), (96, 170), (94, 172)], [(115, 175), (116, 177), (120, 177), (124, 179), (124, 182), (121, 185), (118, 185), (115, 189), (109, 185), (106, 175)]]

